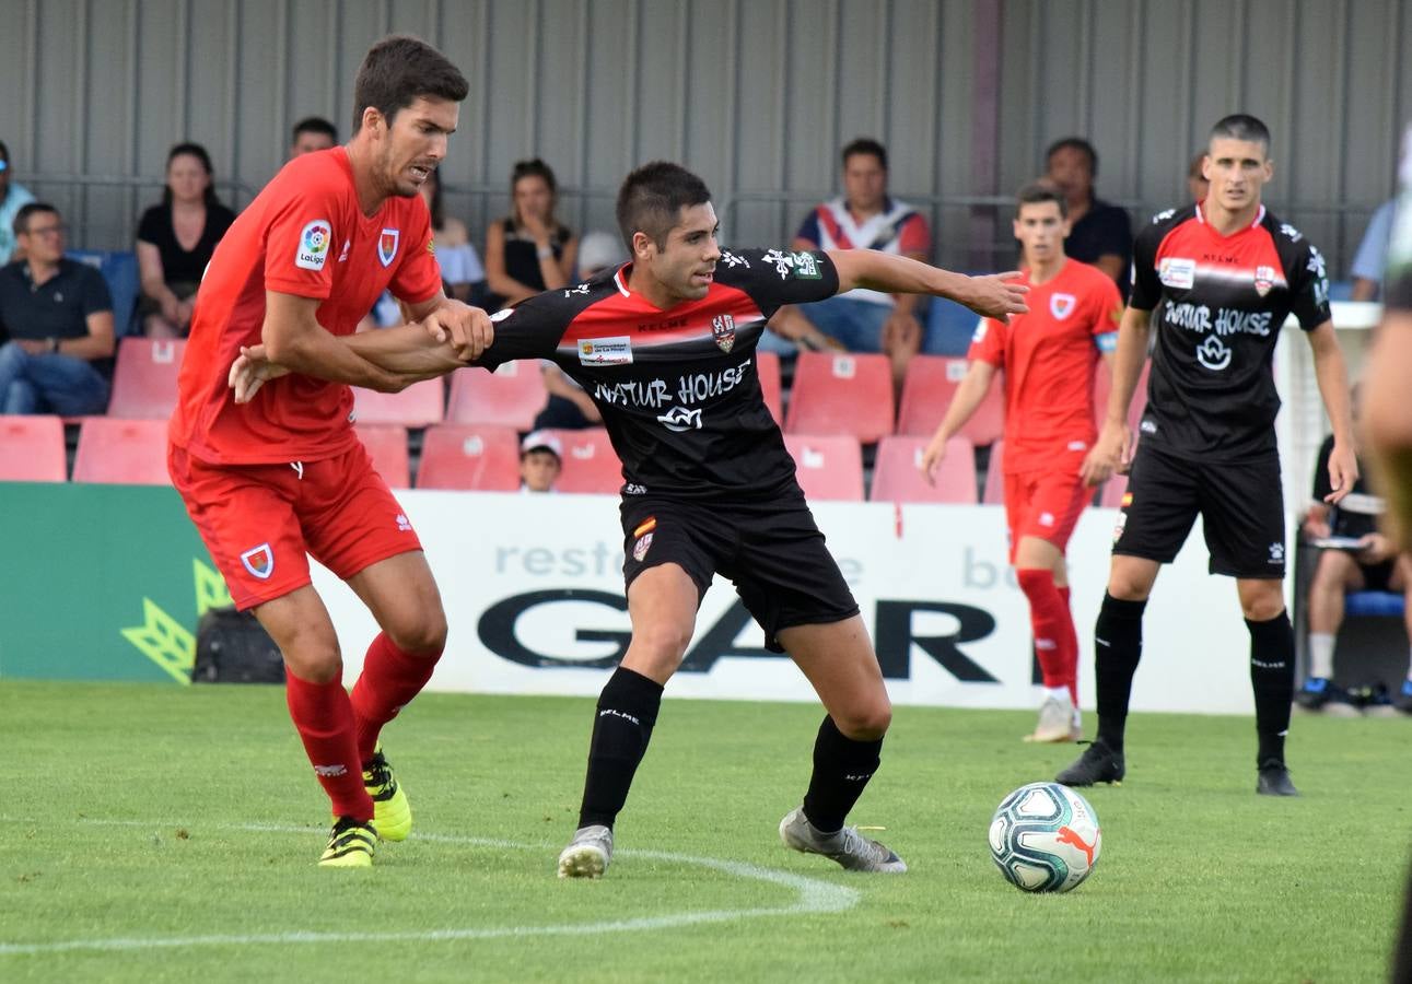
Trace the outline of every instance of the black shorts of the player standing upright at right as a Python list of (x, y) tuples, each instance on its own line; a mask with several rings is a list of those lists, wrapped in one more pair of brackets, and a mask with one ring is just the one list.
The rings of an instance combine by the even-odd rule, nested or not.
[(1113, 552), (1171, 563), (1202, 517), (1209, 570), (1285, 576), (1285, 497), (1279, 456), (1200, 462), (1138, 445), (1113, 531)]

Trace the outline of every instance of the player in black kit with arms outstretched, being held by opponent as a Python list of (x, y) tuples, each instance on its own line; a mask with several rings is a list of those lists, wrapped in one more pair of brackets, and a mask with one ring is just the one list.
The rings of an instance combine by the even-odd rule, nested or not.
[[(878, 768), (891, 704), (858, 606), (825, 548), (794, 460), (765, 407), (755, 343), (785, 304), (868, 287), (936, 294), (981, 315), (1025, 311), (1018, 274), (964, 277), (875, 250), (722, 250), (706, 185), (675, 164), (624, 181), (617, 217), (631, 263), (496, 316), (476, 364), (554, 359), (593, 398), (623, 460), (624, 579), (633, 640), (599, 697), (579, 829), (561, 877), (597, 877), (613, 823), (657, 723), (696, 610), (720, 573), (823, 702), (813, 774), (779, 824), (795, 850), (846, 868), (905, 871), (844, 817)], [(421, 378), (469, 359), (415, 326), (349, 340), (390, 371)], [(452, 343), (462, 342), (460, 332)], [(278, 371), (237, 363), (237, 398)]]

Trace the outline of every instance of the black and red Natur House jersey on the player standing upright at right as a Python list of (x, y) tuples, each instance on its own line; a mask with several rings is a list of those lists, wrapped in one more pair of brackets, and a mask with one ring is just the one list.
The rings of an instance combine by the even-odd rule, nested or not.
[(1206, 460), (1276, 453), (1271, 361), (1291, 313), (1306, 332), (1329, 320), (1319, 250), (1264, 206), (1230, 236), (1200, 205), (1162, 212), (1134, 244), (1130, 306), (1156, 323), (1141, 439)]

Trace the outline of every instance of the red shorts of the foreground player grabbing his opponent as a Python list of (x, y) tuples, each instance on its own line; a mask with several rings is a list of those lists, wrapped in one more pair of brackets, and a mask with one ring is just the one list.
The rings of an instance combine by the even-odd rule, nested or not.
[(363, 445), (321, 462), (208, 464), (171, 445), (167, 469), (240, 610), (309, 583), (309, 556), (347, 580), (419, 551)]

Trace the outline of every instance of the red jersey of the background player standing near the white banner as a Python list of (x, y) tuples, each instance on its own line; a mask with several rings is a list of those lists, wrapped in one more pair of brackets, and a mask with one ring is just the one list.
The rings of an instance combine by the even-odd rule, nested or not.
[(1048, 284), (1029, 284), (1025, 304), (1029, 313), (1008, 325), (983, 320), (969, 353), (1005, 371), (1008, 474), (1062, 467), (1093, 446), (1093, 371), (1123, 315), (1113, 278), (1077, 260)]

